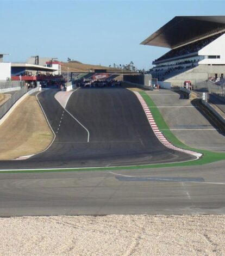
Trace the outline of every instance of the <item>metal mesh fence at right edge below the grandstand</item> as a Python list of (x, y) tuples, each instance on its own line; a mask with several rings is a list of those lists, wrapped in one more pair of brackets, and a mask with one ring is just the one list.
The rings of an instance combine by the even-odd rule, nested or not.
[(221, 84), (220, 86), (217, 86), (212, 81), (204, 81), (201, 83), (196, 83), (195, 90), (199, 90), (201, 92), (213, 93), (213, 94), (217, 94), (222, 97), (225, 97), (225, 85)]

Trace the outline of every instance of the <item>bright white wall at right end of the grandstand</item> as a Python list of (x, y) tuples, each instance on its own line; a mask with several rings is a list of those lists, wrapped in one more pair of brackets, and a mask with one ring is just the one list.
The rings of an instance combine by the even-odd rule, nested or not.
[(221, 35), (219, 38), (210, 42), (207, 46), (203, 47), (198, 51), (198, 55), (201, 56), (218, 56), (220, 59), (203, 59), (199, 64), (225, 64), (225, 34)]

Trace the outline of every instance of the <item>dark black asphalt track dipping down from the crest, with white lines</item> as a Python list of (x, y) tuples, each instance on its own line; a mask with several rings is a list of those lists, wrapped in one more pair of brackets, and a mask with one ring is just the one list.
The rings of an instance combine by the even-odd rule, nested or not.
[(55, 100), (55, 93), (57, 90), (49, 89), (38, 95), (56, 135), (51, 147), (28, 160), (1, 161), (1, 169), (128, 166), (194, 159), (158, 141), (139, 100), (127, 89), (79, 89), (66, 106), (71, 114)]

